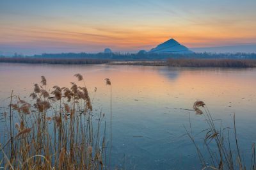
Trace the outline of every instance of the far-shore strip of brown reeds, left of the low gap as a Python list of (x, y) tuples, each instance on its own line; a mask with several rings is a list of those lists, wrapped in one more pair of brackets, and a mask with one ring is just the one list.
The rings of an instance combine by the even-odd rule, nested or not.
[(61, 65), (92, 65), (108, 63), (108, 59), (87, 58), (0, 58), (0, 63), (47, 63)]

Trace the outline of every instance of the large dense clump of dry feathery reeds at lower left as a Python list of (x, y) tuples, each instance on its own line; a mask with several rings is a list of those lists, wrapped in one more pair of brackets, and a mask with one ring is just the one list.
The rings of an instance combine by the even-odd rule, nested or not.
[[(83, 81), (81, 74), (75, 76)], [(106, 137), (100, 134), (104, 114), (93, 112), (85, 83), (50, 90), (42, 76), (30, 97), (29, 103), (10, 97), (0, 167), (106, 169)]]

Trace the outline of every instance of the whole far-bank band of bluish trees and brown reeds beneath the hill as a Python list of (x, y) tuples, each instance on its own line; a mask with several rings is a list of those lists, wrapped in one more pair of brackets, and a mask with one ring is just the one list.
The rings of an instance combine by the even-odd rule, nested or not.
[(143, 66), (195, 66), (195, 67), (255, 67), (256, 54), (87, 54), (62, 53), (42, 54), (33, 57), (0, 58), (0, 63), (47, 63), (63, 65), (90, 65), (109, 63), (111, 65)]

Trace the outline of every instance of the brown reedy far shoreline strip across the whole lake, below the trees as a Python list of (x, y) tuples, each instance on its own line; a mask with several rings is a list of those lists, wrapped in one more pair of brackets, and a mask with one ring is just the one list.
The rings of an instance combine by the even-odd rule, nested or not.
[(0, 63), (24, 63), (44, 65), (131, 65), (131, 66), (172, 66), (195, 68), (255, 68), (256, 59), (197, 59), (169, 58), (166, 61), (111, 61), (108, 59), (86, 58), (0, 58)]

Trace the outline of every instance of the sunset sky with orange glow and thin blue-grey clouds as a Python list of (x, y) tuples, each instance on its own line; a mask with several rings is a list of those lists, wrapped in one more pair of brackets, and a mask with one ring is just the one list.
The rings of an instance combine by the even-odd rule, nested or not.
[(255, 0), (1, 0), (0, 52), (150, 50), (256, 44)]

